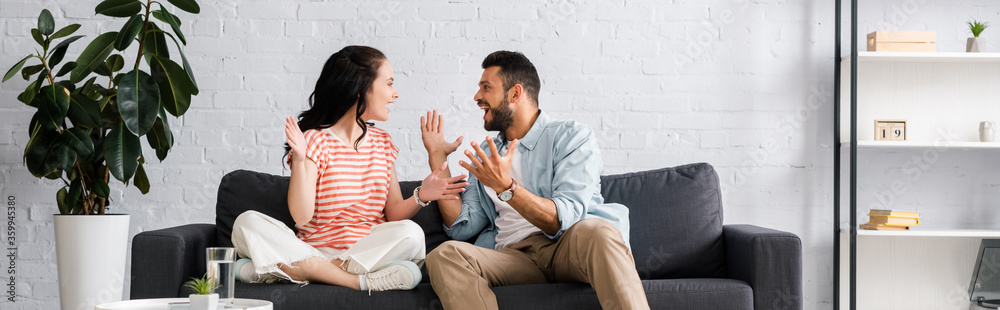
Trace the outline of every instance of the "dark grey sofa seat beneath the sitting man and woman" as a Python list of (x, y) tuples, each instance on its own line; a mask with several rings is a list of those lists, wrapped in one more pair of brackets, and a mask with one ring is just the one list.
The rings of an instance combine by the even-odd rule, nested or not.
[[(739, 280), (643, 280), (642, 285), (652, 309), (753, 309), (753, 290)], [(597, 292), (586, 283), (501, 286), (493, 292), (501, 309), (601, 309)], [(189, 293), (182, 288), (179, 295)], [(324, 284), (236, 283), (236, 297), (269, 300), (275, 309), (441, 309), (428, 283), (411, 291), (373, 292), (371, 296)]]

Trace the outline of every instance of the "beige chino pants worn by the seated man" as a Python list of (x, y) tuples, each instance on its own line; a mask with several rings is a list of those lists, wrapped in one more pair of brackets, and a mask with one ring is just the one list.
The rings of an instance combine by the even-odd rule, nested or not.
[(559, 238), (535, 233), (500, 250), (448, 241), (427, 255), (445, 309), (498, 309), (491, 286), (590, 283), (604, 309), (649, 309), (621, 233), (604, 219), (577, 222)]

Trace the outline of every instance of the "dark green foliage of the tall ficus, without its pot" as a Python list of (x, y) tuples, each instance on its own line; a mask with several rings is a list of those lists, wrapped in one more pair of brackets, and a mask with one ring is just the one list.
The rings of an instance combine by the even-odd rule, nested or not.
[[(189, 13), (200, 11), (195, 0), (167, 2)], [(17, 96), (37, 109), (28, 127), (24, 165), (35, 177), (63, 180), (65, 186), (56, 194), (61, 214), (104, 214), (109, 204), (109, 176), (126, 186), (131, 181), (143, 194), (149, 192), (140, 137), (146, 136), (156, 157), (163, 161), (174, 143), (167, 113), (183, 115), (191, 96), (198, 94), (191, 66), (181, 50), (187, 42), (180, 19), (162, 3), (105, 0), (94, 12), (126, 21), (120, 31), (98, 35), (76, 61), (56, 70), (70, 44), (83, 36), (70, 37), (79, 24), (57, 31), (52, 13), (43, 9), (38, 28), (31, 29), (39, 48), (3, 77), (7, 82), (20, 71), (21, 77), (30, 81)], [(163, 30), (167, 28), (158, 26), (154, 19), (172, 32)], [(183, 65), (170, 58), (168, 37)], [(123, 70), (126, 60), (122, 54), (132, 43), (138, 44), (135, 62)], [(140, 68), (143, 60), (146, 66)]]

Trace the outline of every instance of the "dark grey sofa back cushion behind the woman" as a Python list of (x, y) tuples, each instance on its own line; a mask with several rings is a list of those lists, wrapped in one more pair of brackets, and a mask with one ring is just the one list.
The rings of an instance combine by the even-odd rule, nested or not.
[[(233, 246), (231, 240), (233, 222), (237, 216), (248, 210), (255, 210), (278, 219), (295, 231), (295, 221), (288, 212), (288, 181), (289, 178), (285, 176), (247, 170), (233, 171), (222, 177), (215, 208), (215, 223), (218, 228), (216, 244)], [(410, 198), (417, 185), (420, 185), (419, 181), (399, 182), (403, 198)], [(437, 203), (431, 202), (417, 212), (412, 220), (424, 229), (428, 253), (441, 243), (450, 240), (444, 232)]]

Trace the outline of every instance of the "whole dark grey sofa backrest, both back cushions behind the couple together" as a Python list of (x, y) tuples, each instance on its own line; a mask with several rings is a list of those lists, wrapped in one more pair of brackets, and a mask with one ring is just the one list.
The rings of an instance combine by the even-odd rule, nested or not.
[[(629, 208), (632, 254), (643, 279), (725, 277), (719, 178), (700, 163), (601, 177), (604, 199)], [(402, 181), (403, 198), (419, 181)], [(216, 244), (232, 246), (233, 222), (247, 210), (278, 219), (293, 231), (288, 177), (237, 170), (219, 184)], [(450, 240), (436, 203), (412, 219), (426, 233), (427, 251)]]

